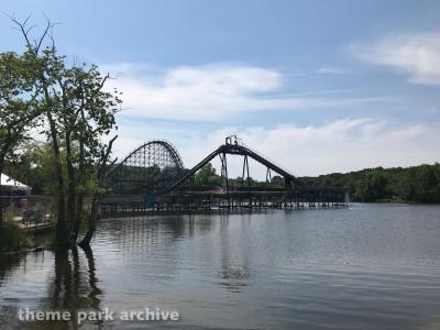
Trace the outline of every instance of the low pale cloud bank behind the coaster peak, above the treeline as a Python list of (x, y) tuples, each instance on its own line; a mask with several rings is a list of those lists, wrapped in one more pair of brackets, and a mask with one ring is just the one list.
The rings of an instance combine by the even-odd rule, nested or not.
[[(439, 129), (422, 124), (393, 127), (385, 121), (359, 118), (322, 125), (253, 127), (244, 130), (229, 127), (209, 134), (165, 133), (164, 138), (177, 144), (189, 168), (224, 143), (226, 136), (238, 134), (246, 145), (275, 160), (294, 175), (305, 176), (439, 162)], [(215, 165), (217, 168), (220, 166), (218, 161)], [(228, 166), (231, 177), (239, 176), (242, 158), (231, 156)], [(251, 164), (251, 175), (264, 178), (265, 168)]]

